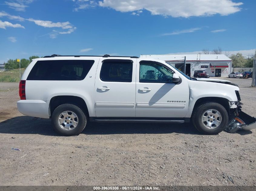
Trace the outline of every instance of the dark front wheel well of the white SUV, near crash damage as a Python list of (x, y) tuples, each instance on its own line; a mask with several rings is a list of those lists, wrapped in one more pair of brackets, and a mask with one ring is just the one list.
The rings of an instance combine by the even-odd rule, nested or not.
[[(219, 104), (221, 104), (228, 112), (228, 115), (230, 114), (230, 107), (229, 107), (229, 100), (223, 97), (201, 97), (199, 98), (193, 108), (193, 112), (194, 109), (200, 104), (200, 103), (204, 103), (204, 102), (217, 102)], [(192, 112), (192, 113), (193, 113)]]

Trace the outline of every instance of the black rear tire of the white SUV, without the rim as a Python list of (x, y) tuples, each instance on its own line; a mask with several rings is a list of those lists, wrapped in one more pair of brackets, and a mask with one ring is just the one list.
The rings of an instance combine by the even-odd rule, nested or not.
[[(78, 125), (71, 130), (62, 129), (58, 123), (59, 115), (64, 111), (71, 111), (74, 112), (78, 117)], [(63, 135), (63, 136), (72, 136), (72, 135), (79, 135), (86, 126), (87, 123), (87, 116), (85, 113), (76, 105), (65, 103), (58, 106), (52, 113), (52, 126), (56, 133)]]

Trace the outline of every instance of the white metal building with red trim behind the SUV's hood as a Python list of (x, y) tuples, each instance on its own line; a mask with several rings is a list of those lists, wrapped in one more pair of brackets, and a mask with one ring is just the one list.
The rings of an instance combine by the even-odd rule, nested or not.
[(232, 72), (232, 60), (224, 54), (141, 55), (140, 57), (164, 60), (176, 67), (184, 63), (185, 56), (185, 73), (189, 76), (193, 76), (195, 70), (205, 70), (211, 77), (228, 77)]

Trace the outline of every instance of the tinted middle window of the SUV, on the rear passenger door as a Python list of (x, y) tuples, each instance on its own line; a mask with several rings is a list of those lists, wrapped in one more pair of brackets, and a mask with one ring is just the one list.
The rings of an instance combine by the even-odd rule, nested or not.
[(100, 78), (102, 81), (131, 82), (132, 62), (103, 62)]

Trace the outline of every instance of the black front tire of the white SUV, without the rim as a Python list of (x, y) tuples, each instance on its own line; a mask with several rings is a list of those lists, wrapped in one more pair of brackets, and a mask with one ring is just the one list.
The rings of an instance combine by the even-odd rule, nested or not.
[[(221, 118), (222, 118), (221, 123), (214, 129), (208, 129), (207, 127), (205, 127), (201, 120), (203, 113), (209, 109), (218, 110), (218, 112), (220, 112), (221, 114)], [(201, 103), (193, 111), (192, 122), (194, 124), (194, 127), (201, 133), (206, 135), (216, 135), (226, 128), (228, 124), (228, 112), (219, 103), (216, 103), (216, 102)]]

